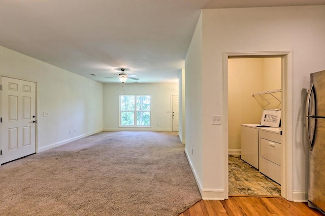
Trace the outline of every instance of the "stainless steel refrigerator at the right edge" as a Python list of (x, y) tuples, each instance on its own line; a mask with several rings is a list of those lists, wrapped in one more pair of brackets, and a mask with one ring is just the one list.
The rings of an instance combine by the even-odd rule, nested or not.
[(308, 206), (325, 211), (325, 70), (310, 75), (306, 103), (310, 145)]

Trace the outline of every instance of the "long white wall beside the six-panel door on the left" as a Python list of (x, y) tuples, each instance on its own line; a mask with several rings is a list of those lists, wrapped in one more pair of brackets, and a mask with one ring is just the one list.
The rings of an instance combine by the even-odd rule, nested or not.
[(103, 130), (103, 84), (4, 47), (0, 75), (37, 83), (39, 152)]

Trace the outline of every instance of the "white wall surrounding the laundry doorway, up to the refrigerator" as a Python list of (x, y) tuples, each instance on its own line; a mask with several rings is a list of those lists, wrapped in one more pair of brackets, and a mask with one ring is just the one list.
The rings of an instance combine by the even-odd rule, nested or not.
[[(295, 194), (307, 191), (308, 147), (304, 137), (304, 98), (309, 87), (309, 74), (325, 68), (325, 6), (305, 7), (273, 7), (273, 8), (241, 8), (241, 9), (208, 9), (202, 11), (202, 38), (194, 33), (190, 48), (185, 59), (186, 89), (195, 88), (199, 91), (187, 91), (188, 98), (202, 98), (191, 103), (191, 109), (198, 109), (202, 114), (186, 115), (186, 128), (199, 128), (201, 139), (187, 136), (192, 131), (186, 131), (186, 144), (200, 148), (203, 156), (190, 157), (193, 169), (200, 176), (202, 191), (208, 197), (222, 199), (226, 183), (226, 164), (224, 154), (227, 138), (226, 124), (212, 125), (211, 116), (223, 112), (223, 53), (224, 52), (261, 52), (261, 51), (292, 51), (292, 83), (290, 96), (293, 107), (288, 111), (288, 125), (293, 129), (293, 192)], [(197, 30), (199, 28), (197, 27)], [(202, 49), (191, 49), (202, 43)], [(202, 55), (202, 65), (199, 68), (192, 65), (193, 58)], [(200, 61), (200, 60), (198, 60)], [(292, 66), (292, 67), (291, 67)], [(197, 69), (198, 68), (198, 69)], [(201, 75), (197, 75), (200, 73)], [(197, 79), (197, 78), (201, 79)], [(196, 80), (197, 79), (197, 80)], [(195, 84), (197, 82), (197, 84)], [(200, 102), (199, 102), (200, 101)], [(186, 103), (186, 107), (188, 107)], [(202, 111), (202, 112), (201, 112)], [(187, 112), (187, 110), (186, 110)], [(200, 122), (202, 119), (202, 122)], [(186, 147), (187, 149), (187, 147)], [(203, 166), (202, 166), (203, 164)], [(200, 169), (200, 171), (199, 171)], [(204, 197), (205, 198), (205, 197)], [(294, 197), (295, 199), (295, 197)]]

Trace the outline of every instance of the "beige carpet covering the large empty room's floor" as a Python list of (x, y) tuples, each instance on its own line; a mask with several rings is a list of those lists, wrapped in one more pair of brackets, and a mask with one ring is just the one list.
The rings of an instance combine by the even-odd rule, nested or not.
[(101, 132), (0, 166), (1, 215), (178, 215), (201, 200), (173, 132)]

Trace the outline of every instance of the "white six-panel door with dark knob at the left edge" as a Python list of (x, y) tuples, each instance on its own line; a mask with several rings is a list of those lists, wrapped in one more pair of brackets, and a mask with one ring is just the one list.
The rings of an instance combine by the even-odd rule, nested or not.
[(1, 77), (1, 163), (36, 153), (36, 83)]

